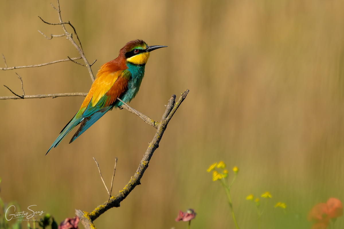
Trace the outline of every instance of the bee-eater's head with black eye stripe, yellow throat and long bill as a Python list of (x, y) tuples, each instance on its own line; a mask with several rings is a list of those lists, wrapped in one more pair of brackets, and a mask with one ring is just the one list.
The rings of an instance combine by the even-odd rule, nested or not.
[(127, 62), (135, 65), (145, 65), (148, 61), (150, 52), (163, 47), (167, 46), (148, 46), (147, 43), (142, 40), (135, 40), (128, 42), (120, 52), (124, 55)]

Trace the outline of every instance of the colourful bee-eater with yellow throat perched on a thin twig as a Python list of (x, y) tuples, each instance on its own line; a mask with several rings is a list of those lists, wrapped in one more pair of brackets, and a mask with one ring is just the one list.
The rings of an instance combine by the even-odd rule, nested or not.
[[(167, 46), (148, 46), (142, 40), (129, 41), (119, 50), (118, 57), (100, 67), (96, 79), (79, 111), (61, 130), (46, 154), (79, 125), (69, 144), (98, 121), (106, 112), (129, 103), (137, 94), (144, 76), (150, 52)], [(118, 100), (119, 98), (120, 100)], [(45, 154), (45, 155), (46, 155)]]

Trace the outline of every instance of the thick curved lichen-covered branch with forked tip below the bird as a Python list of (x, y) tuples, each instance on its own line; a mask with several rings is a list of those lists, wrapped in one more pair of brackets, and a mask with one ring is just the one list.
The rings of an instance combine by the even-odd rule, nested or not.
[(149, 161), (153, 156), (154, 151), (159, 147), (159, 142), (163, 136), (164, 131), (166, 130), (169, 121), (171, 120), (180, 104), (186, 98), (187, 93), (189, 93), (189, 90), (186, 90), (176, 103), (175, 95), (171, 96), (171, 99), (166, 106), (166, 111), (161, 119), (161, 122), (158, 125), (158, 130), (155, 133), (153, 140), (149, 143), (146, 153), (143, 155), (139, 167), (136, 170), (135, 174), (130, 178), (129, 183), (121, 191), (119, 191), (116, 196), (111, 197), (109, 202), (105, 202), (104, 204), (99, 205), (91, 213), (88, 213), (86, 211), (82, 212), (80, 210), (75, 211), (75, 214), (80, 218), (80, 221), (86, 229), (95, 228), (93, 224), (93, 221), (95, 219), (97, 219), (101, 214), (105, 213), (105, 211), (107, 211), (108, 209), (112, 207), (119, 207), (120, 202), (122, 202), (137, 185), (141, 184), (140, 180), (143, 176), (143, 173), (148, 168)]

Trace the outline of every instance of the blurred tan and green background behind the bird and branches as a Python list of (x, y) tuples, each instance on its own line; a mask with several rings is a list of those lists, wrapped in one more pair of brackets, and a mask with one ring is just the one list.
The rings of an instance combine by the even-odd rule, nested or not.
[[(78, 53), (62, 34), (50, 0), (0, 0), (0, 53), (9, 66)], [(53, 1), (54, 4), (56, 4)], [(206, 169), (223, 160), (240, 171), (231, 193), (240, 228), (256, 228), (248, 194), (270, 191), (262, 228), (310, 228), (307, 213), (329, 197), (344, 201), (344, 2), (340, 0), (61, 0), (96, 72), (126, 42), (167, 45), (152, 52), (130, 103), (159, 121), (172, 94), (190, 89), (155, 151), (141, 185), (101, 215), (97, 228), (234, 228), (219, 182)], [(69, 31), (71, 31), (68, 28)], [(4, 67), (0, 61), (0, 66)], [(63, 62), (0, 71), (0, 83), (26, 95), (88, 92), (85, 67)], [(12, 94), (0, 87), (1, 96)], [(0, 196), (37, 205), (60, 222), (107, 200), (92, 157), (113, 193), (129, 181), (155, 129), (126, 110), (107, 113), (44, 156), (83, 97), (0, 101)], [(72, 131), (74, 133), (74, 131)], [(233, 174), (230, 173), (230, 176)], [(287, 204), (287, 214), (273, 208)], [(344, 227), (344, 219), (337, 220)], [(80, 227), (82, 225), (80, 224)]]

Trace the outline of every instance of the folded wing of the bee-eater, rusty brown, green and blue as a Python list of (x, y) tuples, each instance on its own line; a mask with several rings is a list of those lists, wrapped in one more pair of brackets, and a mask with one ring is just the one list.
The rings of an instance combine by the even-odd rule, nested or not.
[[(69, 143), (73, 142), (77, 137), (84, 133), (85, 130), (97, 122), (97, 120), (106, 112), (112, 109), (116, 99), (126, 92), (129, 80), (127, 71), (117, 71), (114, 72), (114, 74), (116, 74), (115, 76), (117, 76), (117, 78), (112, 84), (108, 82), (96, 84), (98, 85), (98, 88), (95, 88), (92, 98), (89, 99), (88, 105), (82, 114), (83, 120), (81, 125)], [(83, 106), (80, 109), (82, 108)]]

